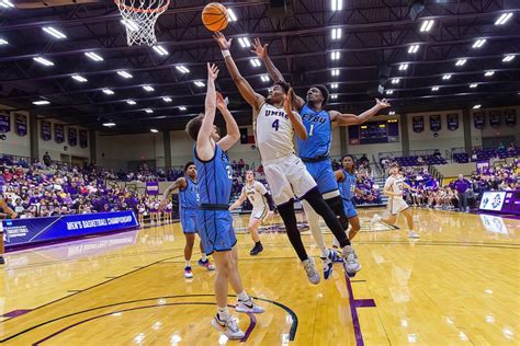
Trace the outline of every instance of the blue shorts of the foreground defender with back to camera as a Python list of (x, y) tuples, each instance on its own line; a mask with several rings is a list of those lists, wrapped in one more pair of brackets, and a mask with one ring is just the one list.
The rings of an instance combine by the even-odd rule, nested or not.
[(213, 252), (230, 251), (237, 244), (233, 217), (229, 210), (199, 210), (199, 235), (206, 255)]

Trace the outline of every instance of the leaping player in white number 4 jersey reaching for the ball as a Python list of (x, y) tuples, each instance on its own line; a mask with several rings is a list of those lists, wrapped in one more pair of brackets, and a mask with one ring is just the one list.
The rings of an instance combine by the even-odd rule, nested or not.
[(307, 130), (299, 114), (292, 111), (294, 91), (290, 90), (285, 82), (278, 82), (273, 85), (268, 99), (256, 93), (240, 74), (233, 60), (229, 53), (231, 39), (227, 41), (222, 33), (216, 33), (215, 41), (221, 47), (233, 81), (241, 96), (253, 108), (255, 135), (265, 177), (271, 187), (280, 217), (285, 224), (289, 240), (302, 261), (309, 281), (318, 284), (320, 276), (316, 269), (314, 258), (307, 255), (296, 224), (296, 215), (294, 214), (295, 195), (299, 199), (306, 200), (324, 218), (328, 228), (341, 244), (347, 258), (348, 275), (354, 276), (361, 268), (355, 252), (341, 223), (321, 197), (313, 176), (308, 173), (302, 160), (294, 153), (294, 134), (301, 139), (307, 138)]

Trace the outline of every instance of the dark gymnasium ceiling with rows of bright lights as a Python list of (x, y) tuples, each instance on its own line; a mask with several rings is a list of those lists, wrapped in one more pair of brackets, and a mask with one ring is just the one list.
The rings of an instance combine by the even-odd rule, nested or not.
[[(240, 124), (251, 122), (250, 107), (202, 25), (201, 11), (207, 1), (172, 1), (156, 26), (159, 45), (168, 51), (163, 56), (148, 46), (127, 46), (121, 15), (111, 1), (57, 5), (63, 0), (10, 0), (14, 7), (5, 1), (0, 0), (0, 39), (7, 42), (0, 45), (0, 104), (104, 134), (180, 129), (202, 112), (205, 88), (194, 82), (205, 79), (205, 61), (215, 61), (221, 65), (218, 84), (230, 100), (230, 109)], [(313, 83), (326, 84), (337, 94), (330, 107), (343, 112), (372, 105), (373, 94), (368, 91), (378, 85), (385, 66), (389, 73), (383, 86), (385, 93), (393, 91), (385, 96), (397, 113), (519, 104), (520, 56), (504, 61), (520, 51), (518, 0), (426, 0), (415, 21), (409, 10), (412, 0), (342, 0), (338, 11), (331, 10), (332, 0), (292, 0), (285, 13), (271, 9), (270, 2), (276, 1), (223, 2), (238, 19), (224, 32), (235, 38), (233, 55), (261, 93), (267, 94), (270, 85), (261, 80), (265, 71), (252, 66), (253, 56), (240, 47), (238, 37), (252, 42), (259, 36), (301, 95)], [(505, 24), (495, 24), (506, 13), (513, 14)], [(433, 21), (430, 31), (421, 32), (428, 20)], [(47, 26), (67, 37), (54, 38), (43, 31)], [(331, 38), (332, 28), (341, 28), (339, 39)], [(473, 48), (477, 39), (486, 42)], [(408, 53), (412, 45), (418, 45), (417, 51)], [(339, 59), (331, 59), (332, 51), (339, 51)], [(95, 53), (103, 61), (93, 61), (86, 53)], [(36, 57), (54, 66), (43, 66)], [(460, 59), (465, 62), (457, 66)], [(403, 64), (408, 65), (406, 70), (399, 70)], [(179, 72), (179, 65), (190, 72)], [(332, 69), (339, 69), (338, 77), (331, 76)], [(133, 78), (116, 73), (122, 70)], [(494, 74), (485, 77), (486, 71)], [(442, 79), (446, 73), (451, 78)], [(87, 82), (78, 82), (74, 74)], [(331, 83), (338, 88), (331, 89)], [(470, 88), (472, 83), (476, 88)], [(144, 85), (154, 91), (145, 91)], [(105, 94), (103, 89), (114, 93)], [(171, 102), (165, 102), (165, 96)], [(38, 100), (49, 104), (34, 105)], [(116, 126), (102, 126), (106, 122)]]

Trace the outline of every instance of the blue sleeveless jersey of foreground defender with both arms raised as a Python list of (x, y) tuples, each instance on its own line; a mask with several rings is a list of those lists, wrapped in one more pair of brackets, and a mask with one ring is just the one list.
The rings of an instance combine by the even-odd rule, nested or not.
[(200, 160), (194, 148), (201, 205), (228, 205), (231, 197), (233, 170), (227, 154), (215, 145), (213, 159)]

